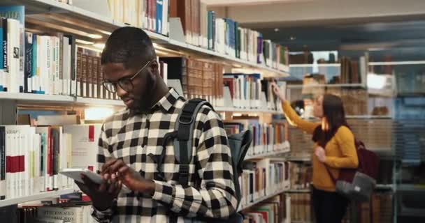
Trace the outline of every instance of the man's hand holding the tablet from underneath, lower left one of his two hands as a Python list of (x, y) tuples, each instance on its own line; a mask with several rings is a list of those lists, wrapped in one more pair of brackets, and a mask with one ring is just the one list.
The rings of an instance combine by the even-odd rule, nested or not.
[(84, 183), (80, 183), (78, 181), (74, 181), (80, 190), (87, 194), (90, 199), (92, 199), (93, 206), (97, 210), (106, 210), (110, 208), (113, 204), (113, 200), (120, 193), (122, 183), (120, 180), (114, 180), (110, 183), (101, 183), (100, 185), (94, 183), (84, 174), (81, 174), (82, 181)]

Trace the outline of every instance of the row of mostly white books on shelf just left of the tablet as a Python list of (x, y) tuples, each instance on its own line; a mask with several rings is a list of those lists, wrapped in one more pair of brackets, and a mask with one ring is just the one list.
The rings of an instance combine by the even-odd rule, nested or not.
[(0, 197), (10, 199), (73, 187), (64, 168), (97, 170), (101, 125), (0, 127)]

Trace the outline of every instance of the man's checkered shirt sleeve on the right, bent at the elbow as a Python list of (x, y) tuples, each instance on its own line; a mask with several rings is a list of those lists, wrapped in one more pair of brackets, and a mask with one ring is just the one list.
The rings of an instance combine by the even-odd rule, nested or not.
[(156, 187), (152, 198), (186, 217), (228, 217), (236, 211), (238, 203), (228, 139), (215, 112), (203, 109), (202, 116), (205, 118), (203, 127), (198, 125), (194, 132), (201, 131), (194, 163), (199, 167), (200, 187), (182, 187), (154, 180)]

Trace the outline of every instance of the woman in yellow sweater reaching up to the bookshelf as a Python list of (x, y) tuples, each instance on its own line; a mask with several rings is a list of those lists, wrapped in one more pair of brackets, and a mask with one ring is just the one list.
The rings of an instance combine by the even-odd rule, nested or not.
[(321, 122), (312, 123), (296, 114), (276, 84), (273, 84), (273, 91), (282, 101), (282, 109), (289, 123), (313, 135), (312, 206), (317, 222), (340, 223), (348, 200), (335, 192), (335, 184), (329, 171), (336, 179), (339, 169), (356, 168), (359, 164), (354, 135), (345, 120), (343, 101), (336, 95), (319, 96), (315, 100), (313, 114)]

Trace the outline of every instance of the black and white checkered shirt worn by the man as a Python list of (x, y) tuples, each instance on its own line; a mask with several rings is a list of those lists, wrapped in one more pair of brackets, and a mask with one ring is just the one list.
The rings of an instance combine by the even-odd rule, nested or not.
[[(178, 184), (178, 163), (172, 140), (166, 144), (164, 164), (157, 174), (157, 157), (164, 134), (173, 132), (185, 100), (174, 89), (147, 114), (118, 112), (103, 123), (99, 139), (99, 168), (109, 157), (122, 158), (154, 180), (155, 192), (120, 193), (113, 208), (94, 210), (100, 222), (182, 222), (183, 217), (226, 217), (236, 209), (231, 152), (219, 116), (203, 107), (196, 117), (194, 149), (187, 187)], [(196, 172), (196, 174), (195, 174)]]

